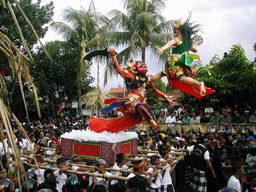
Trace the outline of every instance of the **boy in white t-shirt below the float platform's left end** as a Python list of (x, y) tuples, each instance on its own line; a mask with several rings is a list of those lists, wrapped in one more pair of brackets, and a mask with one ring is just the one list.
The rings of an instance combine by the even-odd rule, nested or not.
[(56, 177), (57, 190), (59, 192), (62, 192), (62, 186), (65, 185), (67, 180), (67, 175), (64, 172), (66, 172), (66, 170), (70, 169), (71, 167), (66, 164), (65, 158), (58, 158), (56, 163), (59, 170), (56, 170), (55, 172), (53, 172), (53, 174)]

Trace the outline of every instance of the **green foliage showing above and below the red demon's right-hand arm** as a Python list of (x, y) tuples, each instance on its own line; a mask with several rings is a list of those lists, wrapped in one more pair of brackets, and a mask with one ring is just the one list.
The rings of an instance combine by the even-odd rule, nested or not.
[[(162, 81), (162, 79), (154, 82), (156, 89), (159, 91), (166, 93), (166, 84)], [(159, 96), (153, 91), (153, 90), (148, 90), (147, 91), (147, 99), (146, 102), (149, 105), (153, 105), (159, 102)]]

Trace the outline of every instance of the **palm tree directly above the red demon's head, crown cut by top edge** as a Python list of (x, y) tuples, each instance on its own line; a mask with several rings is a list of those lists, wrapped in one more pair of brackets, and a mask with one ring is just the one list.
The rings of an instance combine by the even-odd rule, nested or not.
[[(106, 33), (113, 46), (124, 46), (118, 54), (120, 62), (138, 56), (145, 62), (146, 48), (157, 56), (154, 46), (164, 45), (171, 38), (173, 20), (166, 21), (161, 15), (165, 7), (163, 0), (124, 0), (126, 14), (119, 10), (112, 10), (112, 25), (120, 31)], [(112, 71), (111, 71), (112, 70)], [(114, 70), (105, 69), (105, 73)]]

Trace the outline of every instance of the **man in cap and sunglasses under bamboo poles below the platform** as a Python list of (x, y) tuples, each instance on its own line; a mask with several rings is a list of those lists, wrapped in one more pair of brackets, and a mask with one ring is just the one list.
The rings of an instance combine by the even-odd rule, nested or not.
[[(105, 170), (106, 168), (106, 161), (104, 159), (96, 159), (95, 160), (95, 166), (91, 168), (91, 172), (96, 169), (97, 171), (94, 172), (94, 174), (104, 174), (104, 175), (112, 175), (111, 173), (107, 172)], [(89, 185), (103, 185), (106, 188), (106, 192), (110, 192), (111, 185), (114, 184), (114, 181), (112, 180), (106, 180), (100, 177), (90, 177), (89, 179)]]

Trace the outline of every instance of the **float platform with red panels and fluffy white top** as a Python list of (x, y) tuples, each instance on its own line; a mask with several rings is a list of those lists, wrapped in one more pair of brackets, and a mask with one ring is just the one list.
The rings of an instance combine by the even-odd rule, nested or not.
[(115, 162), (119, 153), (125, 156), (137, 154), (137, 137), (135, 132), (96, 133), (90, 130), (73, 130), (61, 135), (61, 155), (101, 158), (107, 162)]

